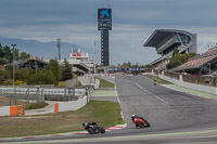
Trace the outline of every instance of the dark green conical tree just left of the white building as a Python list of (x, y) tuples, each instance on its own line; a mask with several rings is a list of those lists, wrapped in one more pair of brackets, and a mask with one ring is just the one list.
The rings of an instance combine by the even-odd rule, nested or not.
[(73, 78), (72, 69), (73, 69), (72, 65), (65, 58), (63, 62), (62, 80), (67, 80)]

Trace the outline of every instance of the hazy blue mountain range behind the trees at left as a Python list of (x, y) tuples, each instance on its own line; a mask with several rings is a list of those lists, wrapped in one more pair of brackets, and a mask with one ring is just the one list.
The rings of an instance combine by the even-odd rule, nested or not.
[[(17, 44), (16, 48), (20, 49), (21, 51), (24, 51), (35, 56), (43, 57), (43, 60), (54, 58), (58, 56), (56, 41), (41, 42), (37, 40), (5, 38), (5, 37), (0, 36), (0, 43), (2, 45), (11, 45), (12, 43), (15, 43)], [(79, 48), (81, 52), (85, 52), (85, 53), (88, 52), (90, 54), (90, 58), (93, 57), (92, 49), (82, 48), (80, 45), (72, 44), (68, 42), (61, 42), (61, 57), (69, 58), (69, 52), (71, 52), (71, 49), (73, 48), (76, 48), (76, 49)]]

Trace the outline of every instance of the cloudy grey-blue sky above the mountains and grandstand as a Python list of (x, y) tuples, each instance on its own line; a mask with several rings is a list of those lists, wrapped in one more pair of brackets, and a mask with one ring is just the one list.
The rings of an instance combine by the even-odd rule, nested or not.
[(43, 42), (61, 38), (89, 49), (95, 41), (100, 50), (97, 9), (108, 4), (111, 64), (157, 58), (155, 49), (142, 47), (155, 29), (197, 34), (200, 53), (217, 42), (216, 0), (0, 0), (0, 36)]

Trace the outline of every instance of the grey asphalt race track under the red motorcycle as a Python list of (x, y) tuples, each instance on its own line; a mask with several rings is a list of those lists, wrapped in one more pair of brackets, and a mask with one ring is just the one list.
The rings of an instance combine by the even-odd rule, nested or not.
[[(127, 128), (105, 134), (41, 138), (15, 143), (217, 143), (217, 102), (154, 86), (142, 76), (116, 76), (115, 83)], [(135, 128), (131, 114), (144, 117), (151, 128)]]

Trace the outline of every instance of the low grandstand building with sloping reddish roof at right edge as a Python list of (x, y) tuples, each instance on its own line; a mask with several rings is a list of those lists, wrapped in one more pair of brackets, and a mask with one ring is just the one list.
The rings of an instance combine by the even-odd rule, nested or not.
[(174, 70), (192, 75), (217, 75), (217, 47), (190, 58), (184, 64), (174, 68)]

